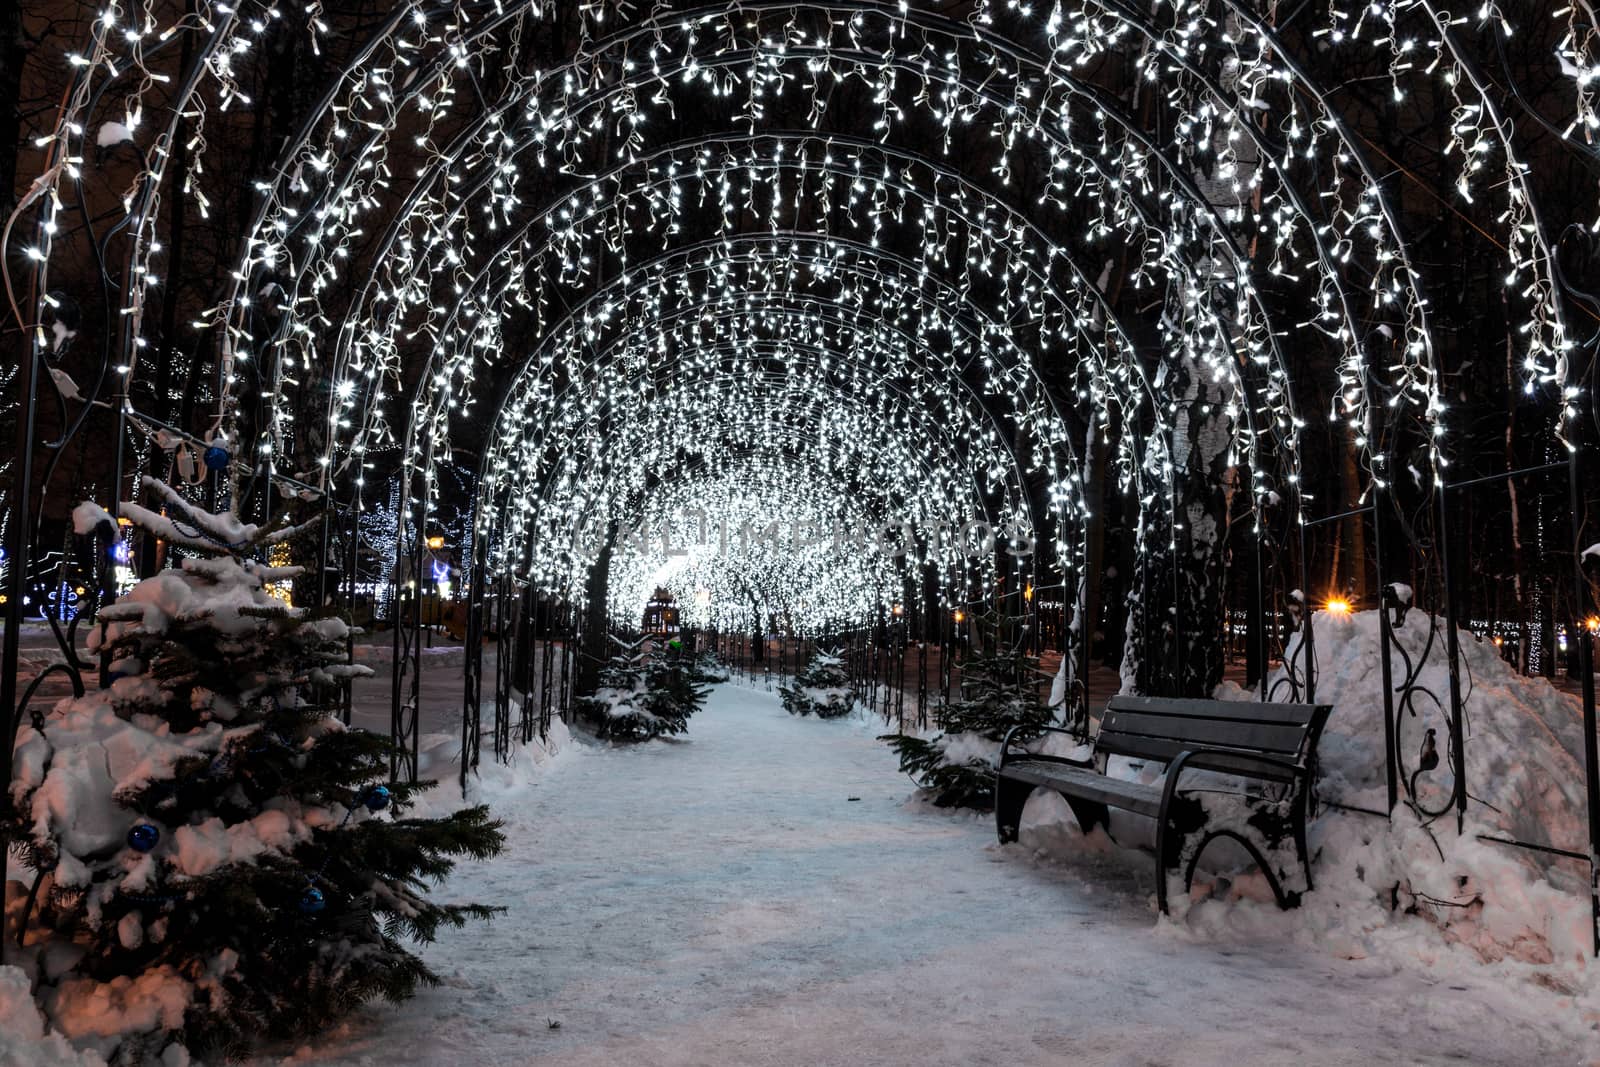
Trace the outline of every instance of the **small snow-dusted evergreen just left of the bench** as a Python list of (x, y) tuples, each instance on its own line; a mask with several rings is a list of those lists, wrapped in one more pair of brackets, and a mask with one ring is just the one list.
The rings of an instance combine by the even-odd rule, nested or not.
[(934, 709), (936, 736), (880, 737), (894, 749), (901, 771), (941, 808), (992, 809), (995, 763), (1006, 731), (1019, 726), (1018, 741), (1032, 741), (1051, 721), (1050, 705), (1035, 689), (1038, 659), (995, 640), (987, 646), (995, 651), (962, 664), (962, 699)]

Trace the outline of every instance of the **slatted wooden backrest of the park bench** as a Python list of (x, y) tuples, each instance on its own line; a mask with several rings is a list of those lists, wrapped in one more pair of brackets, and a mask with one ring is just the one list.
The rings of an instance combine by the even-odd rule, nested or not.
[(1094, 750), (1102, 757), (1170, 761), (1186, 749), (1221, 749), (1218, 755), (1195, 757), (1190, 766), (1290, 781), (1291, 771), (1251, 757), (1307, 768), (1328, 710), (1326, 704), (1114, 696), (1106, 704)]

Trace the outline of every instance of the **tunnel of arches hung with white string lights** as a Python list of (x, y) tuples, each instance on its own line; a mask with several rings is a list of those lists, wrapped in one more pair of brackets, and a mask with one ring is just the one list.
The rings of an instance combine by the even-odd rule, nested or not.
[[(1584, 5), (1525, 26), (1429, 0), (464, 0), (360, 32), (317, 5), (195, 6), (109, 5), (70, 56), (8, 230), (22, 378), (99, 374), (82, 411), (117, 445), (107, 498), (187, 464), (242, 515), (326, 504), (318, 601), (358, 598), (358, 545), (392, 539), (400, 771), (406, 582), (446, 507), (469, 645), (542, 605), (592, 648), (658, 587), (699, 629), (829, 641), (875, 641), (893, 613), (938, 643), (955, 613), (997, 611), (1061, 651), (1080, 704), (1091, 659), (1208, 694), (1238, 645), (1266, 697), (1286, 633), (1310, 646), (1346, 585), (1426, 601), (1456, 678), (1483, 613), (1451, 501), (1534, 472), (1558, 483), (1541, 509), (1586, 507), (1600, 304), (1562, 250), (1594, 211), (1530, 163), (1594, 168)], [(1549, 38), (1562, 74), (1536, 104), (1560, 120), (1488, 66), (1523, 30)], [(285, 34), (318, 72), (293, 107), (238, 69)], [(1374, 139), (1384, 99), (1342, 67), (1442, 117), (1448, 200)], [(211, 176), (269, 104), (282, 136), (219, 221)], [(120, 206), (80, 224), (123, 144)], [(1478, 243), (1442, 243), (1440, 219)], [(202, 222), (229, 235), (213, 285), (170, 298)], [(1494, 277), (1486, 330), (1440, 282), (1462, 256)], [(94, 315), (101, 352), (80, 355)], [(203, 368), (184, 405), (178, 346)], [(1485, 398), (1466, 376), (1491, 355), (1504, 395)], [(1496, 405), (1517, 430), (1485, 443)], [(22, 434), (43, 434), (34, 405)], [(58, 474), (13, 501), (10, 558), (38, 549)], [(1587, 613), (1578, 526), (1542, 530), (1563, 563), (1541, 581), (1571, 592), (1525, 605), (1534, 667), (1557, 617)], [(1314, 697), (1288, 667), (1288, 696)], [(480, 686), (469, 665), (472, 758)], [(1443, 701), (1458, 752), (1469, 699)], [(1587, 713), (1592, 741), (1592, 694)]]

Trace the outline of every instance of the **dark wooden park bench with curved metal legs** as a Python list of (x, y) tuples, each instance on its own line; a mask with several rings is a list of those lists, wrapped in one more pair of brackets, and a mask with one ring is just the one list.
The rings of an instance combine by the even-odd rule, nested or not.
[[(1110, 808), (1155, 819), (1155, 899), (1163, 913), (1168, 877), (1181, 870), (1187, 893), (1200, 854), (1219, 837), (1238, 841), (1261, 864), (1278, 907), (1296, 907), (1312, 888), (1306, 816), (1328, 710), (1326, 704), (1114, 696), (1083, 760), (1013, 750), (1013, 729), (995, 769), (1000, 841), (1016, 840), (1029, 793), (1050, 789), (1066, 797), (1085, 833), (1096, 825), (1109, 830)], [(1165, 782), (1107, 777), (1114, 755), (1165, 763)], [(1192, 771), (1213, 774), (1197, 782)]]

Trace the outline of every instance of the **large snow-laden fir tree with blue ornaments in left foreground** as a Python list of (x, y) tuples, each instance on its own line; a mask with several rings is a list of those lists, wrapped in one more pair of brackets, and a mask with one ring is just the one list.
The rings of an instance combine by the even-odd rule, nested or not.
[(101, 611), (115, 680), (21, 728), (0, 811), (35, 872), (40, 1001), (70, 1037), (120, 1033), (99, 1041), (115, 1064), (237, 1056), (432, 984), (408, 941), (498, 909), (427, 883), (502, 843), (486, 808), (406, 817), (429, 782), (387, 781), (389, 739), (330, 713), (366, 672), (349, 630), (267, 590), (299, 568), (253, 558), (294, 528), (146, 486), (165, 514), (122, 514), (184, 558)]

